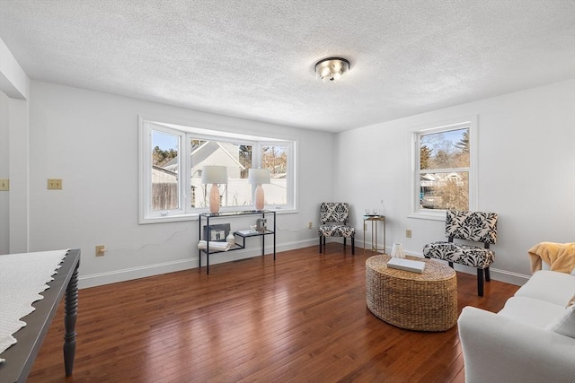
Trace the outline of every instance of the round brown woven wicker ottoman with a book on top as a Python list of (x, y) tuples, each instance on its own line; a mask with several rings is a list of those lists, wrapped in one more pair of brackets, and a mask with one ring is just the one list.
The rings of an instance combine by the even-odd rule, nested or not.
[(423, 273), (387, 267), (391, 257), (366, 261), (367, 308), (385, 322), (419, 331), (446, 331), (457, 322), (457, 280), (451, 267), (419, 257)]

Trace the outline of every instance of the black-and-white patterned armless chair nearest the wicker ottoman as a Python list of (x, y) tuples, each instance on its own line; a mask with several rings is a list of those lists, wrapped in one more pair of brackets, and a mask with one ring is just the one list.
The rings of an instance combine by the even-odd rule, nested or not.
[[(428, 243), (423, 247), (423, 257), (436, 258), (453, 264), (468, 265), (477, 269), (477, 295), (483, 296), (483, 279), (491, 281), (489, 266), (495, 260), (490, 245), (497, 240), (497, 214), (482, 212), (460, 212), (447, 210), (446, 241)], [(483, 247), (474, 244), (454, 243), (454, 239), (482, 242)]]

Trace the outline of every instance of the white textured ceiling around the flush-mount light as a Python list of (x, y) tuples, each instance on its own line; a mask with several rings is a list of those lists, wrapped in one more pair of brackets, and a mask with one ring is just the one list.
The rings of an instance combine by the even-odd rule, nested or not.
[(0, 38), (32, 79), (338, 132), (575, 77), (574, 5), (0, 0)]

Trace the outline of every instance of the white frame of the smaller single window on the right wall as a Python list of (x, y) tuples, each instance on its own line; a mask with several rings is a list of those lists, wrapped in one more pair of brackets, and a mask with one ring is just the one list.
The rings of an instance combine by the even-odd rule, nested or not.
[[(477, 115), (454, 118), (411, 129), (411, 210), (409, 218), (445, 221), (445, 209), (420, 208), (420, 136), (469, 127), (469, 210), (477, 210)], [(453, 171), (462, 170), (453, 168)], [(467, 169), (463, 169), (467, 171)]]

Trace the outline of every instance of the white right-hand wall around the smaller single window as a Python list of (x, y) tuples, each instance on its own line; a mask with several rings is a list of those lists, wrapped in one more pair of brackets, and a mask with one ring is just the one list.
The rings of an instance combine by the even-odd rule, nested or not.
[[(355, 208), (360, 235), (364, 208), (384, 199), (387, 248), (402, 242), (408, 254), (421, 255), (426, 243), (445, 238), (445, 222), (408, 218), (410, 131), (474, 114), (479, 210), (500, 217), (492, 276), (522, 283), (530, 274), (529, 248), (541, 241), (575, 241), (575, 80), (342, 133), (335, 144), (336, 158), (342, 159), (335, 198)], [(406, 229), (412, 230), (411, 239), (405, 238)]]

